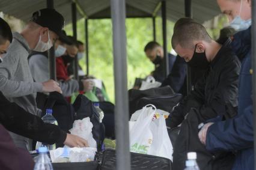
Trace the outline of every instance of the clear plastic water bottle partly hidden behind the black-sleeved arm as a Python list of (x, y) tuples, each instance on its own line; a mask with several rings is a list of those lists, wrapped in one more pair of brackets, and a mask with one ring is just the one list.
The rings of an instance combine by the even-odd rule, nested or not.
[[(50, 124), (55, 124), (58, 126), (58, 122), (55, 120), (55, 118), (52, 115), (52, 109), (46, 109), (46, 115), (44, 115), (42, 118), (44, 123), (50, 123)], [(39, 147), (47, 147), (48, 150), (55, 150), (56, 149), (56, 144), (49, 145), (41, 142), (37, 142), (35, 145), (35, 149), (37, 150)]]

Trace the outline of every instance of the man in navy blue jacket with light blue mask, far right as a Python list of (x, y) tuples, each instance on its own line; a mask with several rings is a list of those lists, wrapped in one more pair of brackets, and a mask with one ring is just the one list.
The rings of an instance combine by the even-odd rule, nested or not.
[[(213, 151), (233, 151), (236, 153), (232, 170), (254, 168), (254, 112), (252, 109), (252, 69), (251, 69), (251, 27), (246, 29), (245, 20), (251, 20), (251, 1), (218, 0), (219, 7), (231, 23), (239, 23), (245, 30), (234, 34), (231, 47), (239, 56), (241, 71), (239, 75), (239, 94), (237, 117), (226, 121), (213, 121), (205, 124), (198, 137)], [(237, 16), (239, 14), (239, 16)], [(234, 21), (233, 21), (234, 20)], [(237, 24), (239, 25), (239, 24)]]

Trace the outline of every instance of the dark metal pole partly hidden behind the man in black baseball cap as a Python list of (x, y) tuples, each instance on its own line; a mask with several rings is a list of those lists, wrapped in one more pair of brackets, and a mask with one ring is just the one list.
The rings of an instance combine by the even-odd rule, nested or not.
[[(46, 1), (47, 8), (54, 8), (53, 0)], [(54, 55), (54, 43), (53, 46), (48, 50), (48, 64), (49, 64), (49, 77), (52, 80), (56, 80), (56, 61)]]

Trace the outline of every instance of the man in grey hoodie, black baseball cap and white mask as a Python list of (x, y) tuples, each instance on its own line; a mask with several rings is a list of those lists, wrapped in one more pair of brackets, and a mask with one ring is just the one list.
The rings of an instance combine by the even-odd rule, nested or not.
[[(28, 65), (29, 52), (50, 49), (54, 41), (64, 36), (61, 31), (63, 26), (64, 18), (56, 10), (35, 11), (25, 28), (20, 33), (13, 33), (13, 42), (0, 64), (0, 91), (8, 100), (31, 114), (41, 115), (35, 101), (37, 92), (62, 91), (54, 80), (34, 82)], [(27, 138), (14, 133), (10, 135), (18, 147), (28, 148)]]

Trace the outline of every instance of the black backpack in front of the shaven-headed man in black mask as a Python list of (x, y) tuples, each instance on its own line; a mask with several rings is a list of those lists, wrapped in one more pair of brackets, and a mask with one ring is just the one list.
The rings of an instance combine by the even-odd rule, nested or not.
[[(203, 119), (198, 110), (192, 108), (180, 127), (174, 143), (172, 169), (183, 170), (188, 152), (197, 153), (197, 163), (201, 170), (228, 170), (234, 163), (234, 154), (227, 151), (210, 153), (198, 138), (198, 124)], [(177, 129), (178, 130), (178, 129)]]

